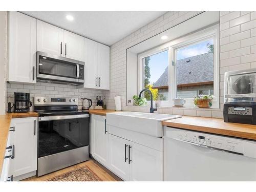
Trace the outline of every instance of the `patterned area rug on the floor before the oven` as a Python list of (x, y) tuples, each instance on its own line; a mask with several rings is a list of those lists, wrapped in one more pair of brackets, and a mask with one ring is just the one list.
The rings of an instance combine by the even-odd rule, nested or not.
[(87, 165), (46, 181), (102, 181)]

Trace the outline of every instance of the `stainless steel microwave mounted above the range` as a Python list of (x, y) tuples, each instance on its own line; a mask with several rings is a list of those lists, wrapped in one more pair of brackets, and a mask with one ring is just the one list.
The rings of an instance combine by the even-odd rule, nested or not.
[(37, 51), (36, 78), (40, 82), (84, 83), (84, 62)]

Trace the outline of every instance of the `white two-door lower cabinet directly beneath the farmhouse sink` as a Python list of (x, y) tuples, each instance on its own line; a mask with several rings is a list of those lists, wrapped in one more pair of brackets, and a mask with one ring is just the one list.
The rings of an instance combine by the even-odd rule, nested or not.
[(125, 181), (163, 181), (163, 153), (109, 134), (109, 168)]

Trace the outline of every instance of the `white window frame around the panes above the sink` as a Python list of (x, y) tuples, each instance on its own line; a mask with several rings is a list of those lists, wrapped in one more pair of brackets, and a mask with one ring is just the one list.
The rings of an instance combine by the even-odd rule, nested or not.
[[(178, 49), (182, 49), (189, 45), (193, 45), (196, 42), (200, 42), (207, 39), (214, 39), (214, 95), (212, 101), (212, 108), (219, 108), (219, 25), (207, 27), (203, 30), (185, 35), (175, 40), (169, 41), (164, 45), (153, 48), (146, 52), (138, 54), (138, 94), (144, 88), (144, 63), (143, 58), (151, 56), (162, 51), (168, 50), (168, 69), (169, 69), (169, 94), (168, 101), (156, 101), (159, 106), (173, 106), (173, 99), (177, 95), (177, 79), (176, 79), (176, 65), (173, 65), (176, 61), (176, 54)], [(184, 106), (194, 107), (194, 98), (185, 99)]]

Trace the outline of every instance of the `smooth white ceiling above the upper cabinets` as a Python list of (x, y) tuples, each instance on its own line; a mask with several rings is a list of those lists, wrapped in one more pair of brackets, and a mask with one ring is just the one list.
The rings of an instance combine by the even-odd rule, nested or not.
[[(113, 45), (166, 11), (22, 11), (84, 37)], [(66, 19), (72, 15), (73, 21)]]

